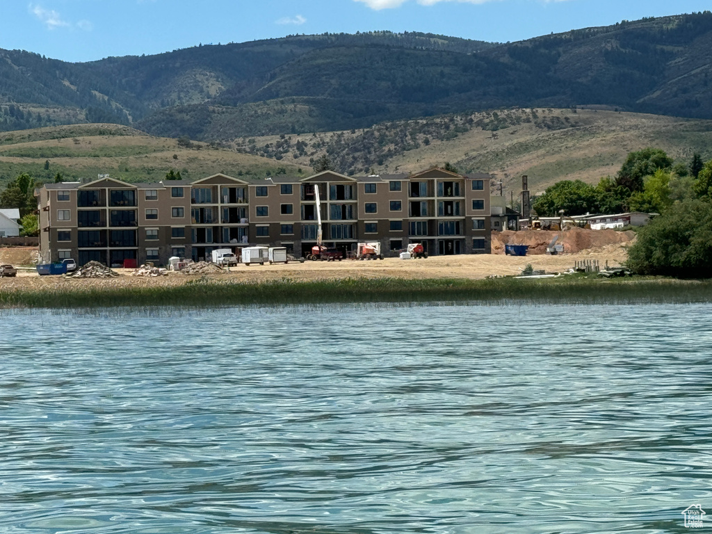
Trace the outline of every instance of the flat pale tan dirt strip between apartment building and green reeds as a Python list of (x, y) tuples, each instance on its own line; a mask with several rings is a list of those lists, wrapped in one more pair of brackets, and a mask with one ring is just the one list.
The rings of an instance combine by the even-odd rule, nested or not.
[[(421, 260), (385, 258), (374, 261), (306, 261), (264, 266), (239, 265), (229, 272), (206, 275), (202, 278), (219, 281), (324, 281), (344, 278), (399, 278), (406, 280), (465, 278), (478, 280), (491, 276), (513, 276), (528, 264), (548, 273), (560, 273), (574, 266), (575, 261), (597, 260), (600, 266), (618, 266), (626, 259), (626, 249), (609, 245), (595, 250), (558, 256), (504, 256), (502, 254), (473, 254), (462, 256), (436, 256)], [(160, 277), (131, 276), (132, 269), (114, 269), (117, 278), (65, 278), (63, 276), (38, 276), (30, 269), (20, 270), (16, 278), (0, 278), (0, 290), (67, 290), (78, 288), (124, 288), (182, 286), (201, 276), (169, 273)]]

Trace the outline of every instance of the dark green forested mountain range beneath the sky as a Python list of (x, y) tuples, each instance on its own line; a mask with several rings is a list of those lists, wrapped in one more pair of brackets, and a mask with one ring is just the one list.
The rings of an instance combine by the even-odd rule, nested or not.
[(83, 122), (224, 141), (498, 108), (712, 118), (712, 13), (515, 43), (369, 32), (68, 63), (0, 50), (0, 130)]

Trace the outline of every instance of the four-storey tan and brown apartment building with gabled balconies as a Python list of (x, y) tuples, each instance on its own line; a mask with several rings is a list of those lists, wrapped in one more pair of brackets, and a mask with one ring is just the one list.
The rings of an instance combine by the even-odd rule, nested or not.
[(348, 177), (199, 179), (129, 184), (109, 177), (36, 190), (42, 261), (76, 258), (119, 266), (170, 256), (201, 260), (215, 248), (316, 244), (318, 188), (323, 241), (343, 251), (379, 241), (384, 255), (422, 243), (431, 255), (490, 252), (488, 174), (444, 169)]

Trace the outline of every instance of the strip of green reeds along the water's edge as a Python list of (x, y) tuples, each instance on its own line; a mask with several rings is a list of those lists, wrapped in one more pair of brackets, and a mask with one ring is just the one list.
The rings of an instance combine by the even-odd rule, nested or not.
[(239, 282), (200, 278), (171, 286), (61, 286), (0, 290), (0, 308), (189, 307), (348, 303), (626, 304), (712, 302), (712, 281), (666, 278), (490, 280), (345, 278)]

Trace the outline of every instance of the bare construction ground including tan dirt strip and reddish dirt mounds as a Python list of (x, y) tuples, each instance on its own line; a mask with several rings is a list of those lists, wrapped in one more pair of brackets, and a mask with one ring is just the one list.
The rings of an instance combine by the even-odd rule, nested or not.
[[(554, 237), (562, 246), (559, 253), (547, 253)], [(19, 267), (15, 278), (3, 278), (1, 290), (37, 290), (68, 288), (68, 286), (127, 287), (176, 286), (196, 277), (224, 281), (323, 281), (343, 278), (402, 279), (481, 279), (518, 276), (530, 268), (540, 273), (563, 273), (577, 264), (620, 266), (627, 258), (627, 247), (634, 240), (632, 231), (569, 229), (555, 231), (493, 232), (493, 253), (459, 256), (434, 256), (408, 259), (384, 258), (375, 261), (288, 261), (264, 262), (261, 265), (238, 263), (217, 266), (215, 263), (189, 263), (182, 271), (113, 268), (103, 271), (94, 267), (87, 276), (39, 276), (33, 268), (36, 251), (33, 248), (0, 248), (0, 263)], [(528, 245), (526, 256), (508, 256), (504, 248), (510, 241)], [(81, 268), (79, 269), (81, 271)], [(92, 273), (96, 273), (94, 276)]]

